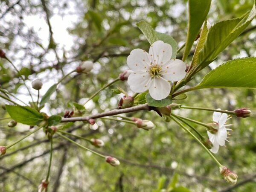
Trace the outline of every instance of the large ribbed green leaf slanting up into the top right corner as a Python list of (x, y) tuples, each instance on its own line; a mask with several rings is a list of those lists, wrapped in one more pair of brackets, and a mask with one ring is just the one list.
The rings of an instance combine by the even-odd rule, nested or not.
[(246, 13), (236, 19), (215, 23), (215, 25), (209, 29), (204, 49), (200, 52), (199, 63), (201, 63), (201, 67), (199, 70), (206, 67), (222, 50), (236, 39), (255, 16), (256, 8), (254, 4), (250, 14)]

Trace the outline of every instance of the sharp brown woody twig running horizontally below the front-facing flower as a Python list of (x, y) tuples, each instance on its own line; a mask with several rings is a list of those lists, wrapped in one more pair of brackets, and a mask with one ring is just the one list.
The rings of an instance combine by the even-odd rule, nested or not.
[(114, 109), (112, 111), (107, 111), (95, 115), (90, 116), (78, 116), (78, 117), (71, 117), (71, 118), (63, 118), (61, 122), (76, 122), (76, 121), (88, 121), (89, 119), (97, 119), (104, 116), (112, 116), (112, 115), (118, 115), (121, 113), (131, 113), (134, 111), (141, 111), (141, 110), (149, 110), (149, 106), (147, 103), (143, 105), (138, 105), (131, 108), (125, 108), (125, 109)]

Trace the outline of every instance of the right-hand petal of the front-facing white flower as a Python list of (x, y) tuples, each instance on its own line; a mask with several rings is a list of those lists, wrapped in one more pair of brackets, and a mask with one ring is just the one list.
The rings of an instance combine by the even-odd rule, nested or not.
[(169, 81), (180, 81), (186, 76), (186, 64), (179, 60), (171, 60), (162, 68), (163, 78)]

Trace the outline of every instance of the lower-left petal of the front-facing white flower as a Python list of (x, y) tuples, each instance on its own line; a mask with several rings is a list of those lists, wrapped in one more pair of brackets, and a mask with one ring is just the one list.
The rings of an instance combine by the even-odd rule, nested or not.
[(127, 83), (132, 91), (141, 93), (149, 88), (150, 81), (151, 76), (148, 73), (137, 71), (129, 75)]

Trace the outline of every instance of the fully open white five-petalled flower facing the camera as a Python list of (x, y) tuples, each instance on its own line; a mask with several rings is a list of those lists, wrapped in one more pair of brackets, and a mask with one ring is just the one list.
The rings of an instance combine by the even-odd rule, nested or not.
[(127, 58), (127, 64), (134, 73), (128, 77), (128, 84), (136, 93), (149, 91), (155, 100), (166, 98), (171, 91), (170, 81), (179, 81), (186, 75), (186, 65), (179, 59), (171, 60), (172, 46), (163, 41), (154, 42), (147, 53), (134, 49)]

